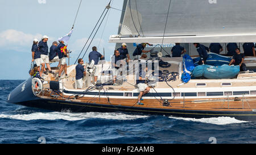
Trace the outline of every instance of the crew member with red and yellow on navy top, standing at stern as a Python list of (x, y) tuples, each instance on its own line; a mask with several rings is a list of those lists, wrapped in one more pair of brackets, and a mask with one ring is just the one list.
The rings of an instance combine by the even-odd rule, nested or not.
[(61, 72), (64, 70), (65, 72), (65, 78), (68, 78), (68, 74), (67, 74), (67, 63), (66, 63), (66, 58), (68, 58), (68, 54), (67, 54), (67, 46), (65, 46), (64, 41), (59, 40), (60, 44), (57, 45), (56, 47), (56, 51), (57, 51), (57, 55), (60, 59), (60, 70), (59, 70), (59, 76), (58, 78), (60, 79), (60, 75)]

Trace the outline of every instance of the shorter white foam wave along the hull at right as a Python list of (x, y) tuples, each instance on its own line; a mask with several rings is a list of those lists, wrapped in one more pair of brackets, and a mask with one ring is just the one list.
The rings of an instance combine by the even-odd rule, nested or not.
[(215, 117), (215, 118), (182, 118), (182, 117), (169, 117), (174, 119), (182, 119), (192, 122), (201, 122), (201, 123), (210, 123), (210, 124), (217, 124), (217, 125), (226, 125), (226, 124), (233, 124), (233, 123), (245, 123), (246, 121), (238, 120), (231, 117)]

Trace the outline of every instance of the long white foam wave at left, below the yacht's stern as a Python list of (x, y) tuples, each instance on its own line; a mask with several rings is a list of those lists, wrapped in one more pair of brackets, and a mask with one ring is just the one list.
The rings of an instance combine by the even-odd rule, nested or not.
[(31, 114), (16, 114), (16, 115), (6, 115), (0, 114), (0, 118), (10, 118), (10, 119), (20, 119), (20, 120), (35, 120), (35, 119), (64, 119), (64, 120), (82, 120), (88, 118), (103, 118), (103, 119), (138, 119), (146, 118), (146, 115), (127, 115), (122, 113), (31, 113)]

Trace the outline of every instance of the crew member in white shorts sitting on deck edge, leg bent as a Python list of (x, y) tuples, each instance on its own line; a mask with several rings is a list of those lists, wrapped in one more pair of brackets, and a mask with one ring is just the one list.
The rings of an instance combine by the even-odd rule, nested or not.
[(137, 105), (144, 105), (141, 103), (141, 101), (143, 100), (142, 96), (150, 91), (150, 87), (148, 87), (146, 84), (146, 72), (145, 71), (147, 70), (147, 67), (146, 68), (142, 68), (142, 67), (143, 67), (143, 65), (139, 64), (139, 72), (137, 74), (137, 79), (136, 79), (136, 84), (137, 84), (137, 87), (139, 88), (139, 96), (138, 96)]

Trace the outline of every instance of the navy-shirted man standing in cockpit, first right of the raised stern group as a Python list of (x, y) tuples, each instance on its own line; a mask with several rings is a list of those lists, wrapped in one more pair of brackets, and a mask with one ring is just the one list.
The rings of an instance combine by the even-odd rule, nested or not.
[(86, 76), (86, 71), (84, 69), (84, 61), (82, 59), (78, 59), (78, 64), (76, 65), (76, 88), (81, 89), (83, 85), (84, 76)]

